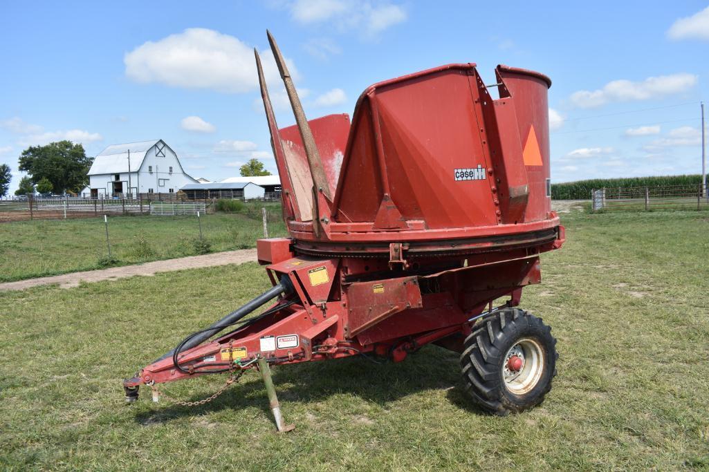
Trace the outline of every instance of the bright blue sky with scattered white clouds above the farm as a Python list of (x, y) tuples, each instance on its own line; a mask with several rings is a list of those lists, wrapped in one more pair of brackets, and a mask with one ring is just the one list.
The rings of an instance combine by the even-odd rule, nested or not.
[(251, 52), (266, 28), (309, 118), (351, 114), (369, 84), (420, 69), (476, 62), (491, 82), (508, 64), (552, 78), (554, 181), (700, 169), (707, 1), (4, 1), (0, 162), (16, 172), (25, 147), (63, 138), (89, 155), (162, 138), (193, 176), (235, 176), (250, 157), (274, 170)]

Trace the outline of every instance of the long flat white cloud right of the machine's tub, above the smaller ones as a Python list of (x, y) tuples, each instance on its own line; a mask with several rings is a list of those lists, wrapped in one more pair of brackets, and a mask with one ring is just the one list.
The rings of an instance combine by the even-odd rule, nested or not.
[(696, 75), (685, 73), (648, 77), (642, 82), (614, 80), (605, 84), (603, 89), (574, 92), (571, 94), (571, 103), (580, 108), (596, 108), (608, 102), (658, 99), (680, 94), (697, 81)]

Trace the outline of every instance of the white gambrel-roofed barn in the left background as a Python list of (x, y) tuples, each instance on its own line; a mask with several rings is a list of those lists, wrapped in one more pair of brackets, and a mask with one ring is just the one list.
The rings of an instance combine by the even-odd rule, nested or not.
[(108, 146), (89, 169), (91, 198), (116, 193), (174, 193), (196, 182), (163, 140)]

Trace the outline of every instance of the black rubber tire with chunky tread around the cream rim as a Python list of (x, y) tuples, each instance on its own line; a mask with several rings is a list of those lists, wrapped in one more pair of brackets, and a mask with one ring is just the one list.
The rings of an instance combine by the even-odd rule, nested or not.
[[(516, 395), (506, 387), (503, 363), (508, 350), (523, 338), (532, 338), (540, 344), (545, 361), (537, 384), (529, 392)], [(464, 342), (460, 366), (466, 392), (481, 408), (501, 416), (539, 405), (557, 375), (556, 344), (552, 328), (542, 318), (519, 308), (491, 313), (473, 327)]]

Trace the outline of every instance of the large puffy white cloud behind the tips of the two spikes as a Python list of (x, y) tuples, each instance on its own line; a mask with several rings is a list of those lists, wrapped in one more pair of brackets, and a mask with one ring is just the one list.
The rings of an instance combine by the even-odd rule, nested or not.
[[(260, 52), (269, 86), (280, 84), (270, 50)], [(230, 35), (206, 28), (188, 28), (156, 42), (147, 41), (123, 57), (125, 75), (135, 82), (242, 93), (258, 87), (252, 47)], [(286, 58), (291, 77), (300, 75)]]

